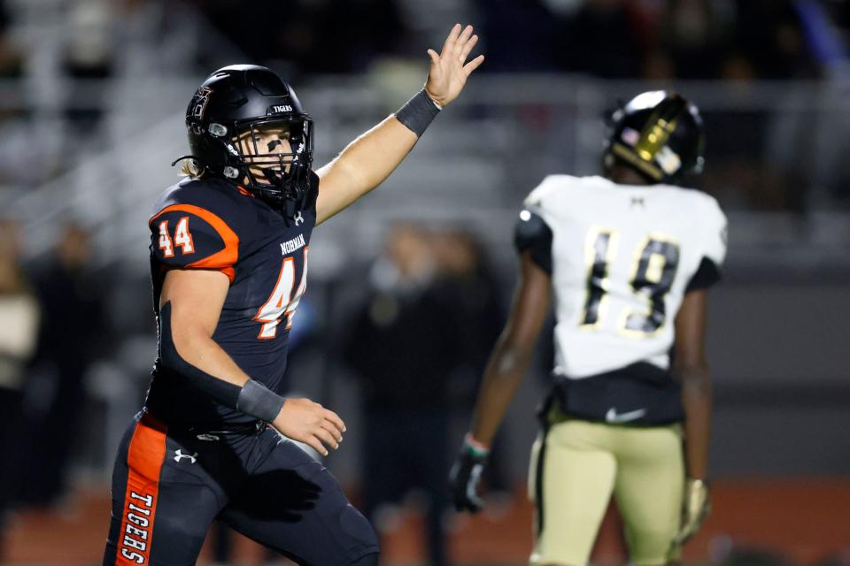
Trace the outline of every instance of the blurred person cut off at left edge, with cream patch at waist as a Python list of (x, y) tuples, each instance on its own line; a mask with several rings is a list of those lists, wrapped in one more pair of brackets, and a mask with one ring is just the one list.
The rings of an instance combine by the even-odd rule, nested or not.
[(15, 494), (19, 468), (21, 389), (35, 352), (40, 309), (21, 269), (18, 225), (0, 220), (0, 560), (4, 515)]

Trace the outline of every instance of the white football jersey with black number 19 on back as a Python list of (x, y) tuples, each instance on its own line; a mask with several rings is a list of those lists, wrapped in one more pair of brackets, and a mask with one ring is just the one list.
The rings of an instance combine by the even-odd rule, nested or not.
[(552, 230), (555, 372), (581, 379), (631, 363), (669, 368), (674, 319), (700, 265), (718, 271), (726, 217), (669, 185), (551, 175), (525, 201)]

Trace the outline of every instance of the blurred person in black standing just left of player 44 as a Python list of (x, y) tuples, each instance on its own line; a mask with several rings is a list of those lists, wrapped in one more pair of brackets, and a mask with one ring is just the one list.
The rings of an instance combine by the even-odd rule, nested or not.
[(35, 274), (45, 324), (25, 387), (27, 482), (19, 490), (24, 503), (46, 505), (62, 495), (85, 402), (83, 377), (104, 351), (101, 281), (89, 268), (90, 256), (89, 233), (72, 222), (55, 256)]

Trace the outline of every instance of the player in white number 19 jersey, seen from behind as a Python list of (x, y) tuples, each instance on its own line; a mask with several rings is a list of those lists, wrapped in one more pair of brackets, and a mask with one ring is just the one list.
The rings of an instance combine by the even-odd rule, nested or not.
[(553, 302), (553, 386), (529, 470), (535, 565), (586, 564), (612, 494), (638, 566), (675, 560), (708, 510), (703, 335), (726, 218), (676, 186), (702, 169), (692, 103), (646, 92), (612, 122), (605, 177), (551, 175), (525, 201), (511, 315), (450, 478), (458, 509), (481, 509), (491, 440)]

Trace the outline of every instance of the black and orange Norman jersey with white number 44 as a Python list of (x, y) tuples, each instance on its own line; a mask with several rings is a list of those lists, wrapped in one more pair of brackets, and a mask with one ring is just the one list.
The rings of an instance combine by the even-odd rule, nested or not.
[[(305, 206), (285, 218), (224, 180), (183, 180), (160, 196), (149, 221), (157, 317), (168, 270), (224, 273), (230, 288), (213, 340), (251, 379), (279, 394), (292, 318), (306, 289), (318, 188), (319, 178), (311, 173)], [(166, 424), (197, 430), (254, 420), (214, 402), (159, 358), (145, 408)]]

